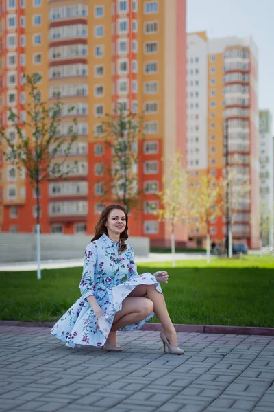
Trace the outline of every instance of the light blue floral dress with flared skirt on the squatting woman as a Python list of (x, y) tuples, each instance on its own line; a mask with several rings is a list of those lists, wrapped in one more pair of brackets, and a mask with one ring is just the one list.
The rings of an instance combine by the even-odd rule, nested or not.
[[(154, 275), (144, 273), (138, 275), (134, 263), (134, 251), (129, 244), (121, 254), (118, 253), (120, 242), (113, 242), (103, 234), (101, 238), (91, 242), (84, 254), (82, 280), (79, 284), (82, 297), (59, 319), (51, 329), (56, 338), (69, 347), (79, 345), (103, 346), (115, 313), (122, 308), (123, 299), (138, 285), (155, 284), (158, 292), (161, 286)], [(95, 330), (95, 313), (86, 300), (94, 295), (104, 316), (98, 319)], [(128, 325), (121, 330), (137, 330), (153, 317)]]

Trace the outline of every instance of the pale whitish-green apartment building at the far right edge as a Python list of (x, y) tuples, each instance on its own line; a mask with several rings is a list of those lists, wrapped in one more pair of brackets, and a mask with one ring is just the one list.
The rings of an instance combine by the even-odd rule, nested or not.
[(260, 110), (260, 204), (261, 213), (270, 221), (269, 233), (262, 241), (274, 246), (274, 143), (269, 110)]

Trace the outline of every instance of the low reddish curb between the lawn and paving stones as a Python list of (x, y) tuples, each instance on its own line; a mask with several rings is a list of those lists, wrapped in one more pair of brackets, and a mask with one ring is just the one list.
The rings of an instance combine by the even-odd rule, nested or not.
[[(0, 326), (27, 326), (27, 327), (46, 327), (52, 328), (55, 322), (18, 322), (18, 321), (0, 321)], [(222, 325), (174, 325), (177, 332), (188, 333), (212, 333), (212, 334), (242, 334), (242, 335), (259, 335), (274, 336), (274, 328), (256, 328), (253, 326), (222, 326)], [(162, 330), (160, 323), (146, 323), (141, 330)]]

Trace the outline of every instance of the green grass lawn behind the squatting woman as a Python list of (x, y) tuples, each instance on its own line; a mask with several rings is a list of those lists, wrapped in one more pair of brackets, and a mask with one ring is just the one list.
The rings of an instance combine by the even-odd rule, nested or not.
[[(169, 271), (161, 284), (173, 323), (274, 327), (274, 258), (139, 264)], [(0, 319), (56, 321), (79, 297), (82, 268), (0, 273)], [(151, 321), (157, 321), (153, 318)]]

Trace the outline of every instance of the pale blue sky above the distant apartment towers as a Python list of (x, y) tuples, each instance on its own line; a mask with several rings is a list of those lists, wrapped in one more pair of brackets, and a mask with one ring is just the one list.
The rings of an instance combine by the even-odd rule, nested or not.
[(259, 108), (268, 108), (274, 119), (274, 0), (187, 0), (186, 30), (206, 30), (208, 38), (253, 37)]

